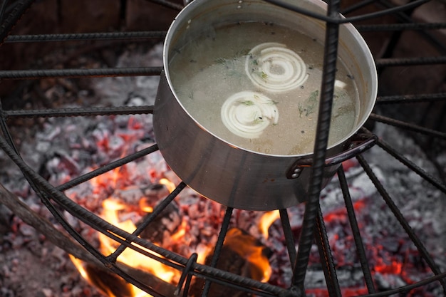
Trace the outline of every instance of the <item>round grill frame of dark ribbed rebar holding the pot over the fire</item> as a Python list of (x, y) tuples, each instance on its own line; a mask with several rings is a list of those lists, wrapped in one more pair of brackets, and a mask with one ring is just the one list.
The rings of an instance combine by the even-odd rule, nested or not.
[[(294, 242), (294, 236), (291, 232), (291, 226), (289, 223), (288, 212), (286, 209), (280, 210), (281, 224), (284, 229), (284, 234), (286, 238), (286, 247), (289, 251), (289, 258), (292, 266), (294, 267), (294, 276), (292, 283), (289, 288), (279, 288), (277, 286), (272, 286), (269, 283), (261, 283), (259, 281), (254, 281), (250, 278), (245, 278), (242, 276), (237, 276), (234, 273), (229, 273), (227, 271), (222, 271), (214, 268), (217, 264), (217, 259), (219, 257), (219, 252), (222, 249), (223, 241), (229, 227), (229, 220), (231, 219), (232, 212), (234, 209), (228, 207), (226, 214), (224, 215), (223, 224), (220, 229), (219, 238), (217, 245), (214, 249), (214, 256), (212, 263), (209, 266), (197, 264), (197, 255), (193, 254), (189, 259), (179, 256), (178, 254), (162, 249), (150, 241), (145, 239), (140, 239), (138, 235), (141, 233), (146, 226), (152, 222), (158, 214), (162, 212), (167, 205), (169, 205), (177, 194), (179, 194), (182, 189), (186, 187), (184, 182), (177, 185), (177, 188), (169, 194), (165, 199), (157, 205), (152, 214), (148, 216), (140, 226), (133, 232), (133, 234), (128, 234), (127, 232), (118, 229), (116, 226), (105, 222), (103, 219), (97, 215), (89, 212), (87, 209), (79, 206), (75, 202), (68, 199), (63, 191), (75, 187), (78, 184), (87, 182), (93, 177), (97, 177), (100, 174), (114, 170), (120, 166), (137, 160), (140, 157), (148, 155), (152, 152), (158, 150), (157, 145), (148, 147), (147, 149), (140, 150), (131, 155), (110, 162), (104, 167), (100, 167), (97, 170), (93, 170), (87, 174), (83, 174), (80, 177), (71, 179), (65, 184), (61, 184), (58, 187), (53, 187), (49, 184), (46, 179), (43, 179), (40, 175), (36, 173), (31, 167), (29, 167), (26, 162), (21, 158), (18, 150), (14, 145), (14, 137), (11, 136), (9, 132), (9, 127), (6, 120), (9, 118), (47, 118), (47, 117), (66, 117), (66, 116), (93, 116), (93, 115), (128, 115), (128, 114), (147, 114), (152, 113), (152, 106), (142, 106), (142, 107), (110, 107), (110, 108), (63, 108), (63, 109), (47, 109), (47, 110), (4, 110), (0, 105), (0, 127), (2, 135), (0, 136), (0, 147), (6, 155), (8, 155), (11, 160), (20, 168), (23, 172), (28, 182), (33, 187), (34, 191), (41, 198), (41, 201), (50, 210), (53, 216), (58, 220), (58, 222), (68, 231), (68, 233), (76, 239), (80, 244), (82, 244), (87, 251), (100, 260), (104, 266), (108, 267), (111, 271), (117, 273), (119, 276), (123, 277), (125, 281), (133, 283), (147, 293), (152, 294), (152, 296), (163, 296), (156, 290), (154, 290), (150, 284), (141, 283), (137, 279), (129, 276), (127, 273), (119, 269), (116, 266), (116, 259), (125, 249), (134, 249), (145, 256), (157, 259), (157, 261), (162, 262), (168, 266), (171, 266), (179, 271), (182, 271), (182, 276), (180, 278), (180, 283), (177, 286), (177, 292), (182, 292), (183, 296), (187, 296), (188, 288), (192, 276), (197, 276), (200, 278), (205, 278), (206, 282), (202, 292), (202, 296), (207, 296), (209, 292), (209, 286), (211, 283), (222, 283), (225, 286), (232, 286), (242, 291), (248, 293), (254, 293), (257, 296), (305, 296), (304, 280), (306, 276), (306, 270), (308, 267), (308, 258), (310, 254), (310, 249), (313, 241), (316, 240), (316, 244), (319, 249), (319, 254), (321, 255), (321, 264), (323, 266), (323, 271), (326, 276), (326, 283), (329, 296), (341, 296), (341, 289), (339, 288), (339, 281), (336, 278), (336, 268), (333, 263), (333, 255), (330, 251), (330, 246), (328, 244), (326, 226), (323, 222), (323, 216), (321, 213), (321, 208), (319, 205), (319, 197), (321, 194), (321, 184), (322, 184), (322, 174), (323, 167), (326, 165), (326, 148), (328, 142), (328, 129), (330, 127), (331, 120), (331, 103), (333, 98), (334, 80), (336, 73), (336, 57), (337, 57), (337, 46), (338, 46), (338, 30), (339, 26), (342, 24), (362, 21), (365, 19), (373, 19), (378, 16), (384, 16), (386, 14), (398, 14), (402, 18), (407, 18), (404, 14), (401, 14), (407, 9), (414, 9), (415, 7), (426, 3), (430, 0), (416, 0), (410, 1), (408, 4), (403, 6), (391, 6), (387, 1), (378, 1), (383, 9), (377, 13), (367, 14), (362, 16), (354, 16), (342, 18), (339, 14), (340, 12), (340, 0), (328, 1), (328, 13), (327, 15), (313, 14), (309, 11), (304, 11), (299, 9), (299, 7), (294, 5), (284, 4), (284, 2), (279, 0), (266, 0), (271, 4), (276, 4), (279, 6), (284, 6), (286, 9), (291, 9), (299, 14), (307, 14), (314, 18), (326, 21), (326, 46), (324, 49), (324, 63), (323, 63), (323, 80), (321, 85), (321, 105), (318, 116), (318, 126), (316, 132), (316, 145), (314, 147), (314, 155), (312, 160), (312, 174), (310, 179), (310, 190), (308, 201), (306, 202), (304, 219), (302, 224), (301, 237), (299, 239), (299, 249), (295, 249), (296, 243)], [(8, 36), (11, 28), (19, 20), (20, 16), (28, 9), (33, 3), (33, 0), (20, 0), (15, 1), (14, 4), (9, 3), (10, 1), (1, 1), (0, 5), (0, 21), (2, 26), (0, 27), (0, 41), (2, 42), (51, 42), (51, 41), (85, 41), (85, 40), (135, 40), (138, 38), (156, 38), (161, 39), (165, 36), (163, 31), (146, 31), (146, 32), (117, 32), (117, 33), (81, 33), (81, 34), (44, 34), (36, 36)], [(153, 1), (157, 4), (162, 4), (172, 9), (181, 9), (177, 4), (172, 4), (165, 0)], [(362, 6), (369, 5), (375, 1), (365, 0), (361, 1), (350, 9), (342, 11), (343, 13), (348, 13)], [(6, 16), (6, 17), (2, 17)], [(408, 21), (407, 19), (405, 21)], [(410, 20), (409, 20), (410, 21)], [(390, 25), (362, 25), (358, 26), (360, 30), (363, 31), (399, 31), (399, 30), (418, 30), (422, 31), (423, 34), (428, 34), (428, 30), (435, 28), (446, 28), (446, 23), (437, 24), (390, 24)], [(430, 37), (431, 38), (431, 37)], [(437, 46), (443, 46), (442, 54), (440, 57), (419, 57), (419, 58), (383, 58), (377, 59), (375, 64), (378, 68), (384, 68), (388, 66), (413, 66), (413, 65), (427, 65), (427, 64), (444, 64), (446, 63), (446, 56), (444, 49), (445, 45), (437, 44)], [(77, 78), (77, 77), (103, 77), (103, 76), (129, 76), (129, 75), (160, 75), (162, 68), (160, 67), (145, 67), (145, 68), (108, 68), (108, 69), (61, 69), (61, 70), (1, 70), (0, 79), (39, 79), (39, 78)], [(420, 101), (436, 101), (445, 100), (446, 93), (436, 93), (436, 94), (423, 94), (423, 95), (395, 95), (395, 96), (385, 96), (380, 97), (377, 100), (377, 104), (395, 104), (409, 102), (420, 102)], [(386, 118), (382, 115), (372, 114), (370, 115), (370, 120), (379, 121), (382, 123), (387, 123), (390, 125), (395, 125), (403, 129), (409, 129), (416, 132), (422, 132), (425, 135), (430, 135), (432, 137), (440, 137), (446, 139), (445, 132), (439, 132), (436, 130), (427, 129), (425, 127), (420, 127), (418, 125), (413, 125), (409, 123), (403, 123), (392, 118)], [(368, 132), (363, 128), (362, 132)], [(410, 162), (398, 151), (394, 150), (383, 140), (376, 140), (379, 147), (383, 148), (390, 155), (395, 157), (400, 162), (403, 162), (411, 170), (419, 174), (423, 179), (430, 182), (433, 186), (437, 187), (441, 192), (446, 194), (446, 186), (439, 180), (432, 177), (427, 172), (423, 171), (420, 167)], [(364, 157), (361, 155), (361, 151), (356, 151), (354, 154), (348, 156), (348, 158), (356, 157), (363, 167), (364, 172), (368, 174), (370, 180), (375, 184), (378, 192), (381, 194), (389, 209), (395, 214), (395, 217), (400, 222), (401, 226), (405, 229), (406, 233), (410, 237), (411, 241), (415, 244), (418, 251), (420, 252), (422, 259), (424, 259), (427, 265), (430, 267), (435, 276), (431, 278), (426, 278), (418, 283), (414, 283), (408, 286), (403, 286), (400, 288), (395, 288), (390, 291), (380, 292), (376, 291), (373, 284), (373, 278), (371, 275), (370, 267), (368, 266), (368, 261), (365, 256), (365, 246), (362, 243), (361, 234), (358, 228), (358, 222), (356, 222), (356, 215), (353, 209), (353, 204), (351, 202), (351, 197), (348, 192), (348, 184), (346, 177), (341, 166), (338, 170), (338, 179), (341, 185), (343, 196), (346, 202), (346, 210), (348, 214), (349, 222), (351, 223), (351, 228), (353, 230), (353, 237), (356, 243), (356, 248), (358, 251), (358, 259), (363, 270), (363, 276), (365, 285), (368, 288), (368, 295), (366, 296), (388, 296), (393, 293), (403, 293), (409, 291), (417, 286), (423, 286), (427, 283), (432, 283), (434, 281), (440, 281), (443, 291), (446, 295), (446, 272), (440, 271), (440, 269), (435, 264), (434, 259), (428, 254), (427, 250), (423, 246), (422, 242), (416, 236), (415, 232), (410, 228), (408, 222), (405, 220), (402, 214), (400, 214), (398, 207), (393, 203), (392, 198), (386, 192), (383, 185), (380, 183), (378, 178), (375, 176), (373, 170), (365, 161)], [(63, 215), (61, 214), (58, 207), (62, 207), (73, 217), (78, 218), (85, 224), (88, 224), (93, 229), (109, 236), (110, 238), (118, 241), (120, 246), (118, 249), (110, 255), (100, 254), (93, 246), (91, 246), (88, 241), (83, 239), (83, 237), (78, 234), (73, 227), (66, 222)], [(125, 239), (125, 240), (124, 240)], [(160, 256), (155, 256), (154, 254), (147, 253), (143, 249), (140, 249), (138, 244), (146, 249), (155, 251)]]

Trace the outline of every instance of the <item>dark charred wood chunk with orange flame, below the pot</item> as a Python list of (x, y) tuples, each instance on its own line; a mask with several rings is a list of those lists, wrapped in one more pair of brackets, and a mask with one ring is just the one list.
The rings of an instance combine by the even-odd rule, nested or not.
[[(229, 229), (224, 240), (222, 252), (217, 262), (217, 268), (257, 281), (267, 281), (271, 273), (269, 266), (270, 250), (257, 239), (242, 229)], [(207, 256), (206, 265), (212, 261), (212, 254)], [(204, 280), (197, 279), (191, 288), (192, 296), (201, 296)], [(212, 283), (208, 296), (214, 297), (244, 297), (251, 296), (247, 292), (238, 291), (229, 286)]]

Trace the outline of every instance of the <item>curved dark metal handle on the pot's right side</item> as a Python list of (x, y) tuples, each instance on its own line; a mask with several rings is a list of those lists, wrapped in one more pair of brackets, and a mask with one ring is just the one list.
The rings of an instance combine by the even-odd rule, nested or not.
[[(373, 147), (377, 140), (378, 137), (371, 133), (359, 133), (354, 135), (347, 150), (340, 152), (333, 157), (326, 158), (325, 167), (340, 164), (341, 162), (361, 154), (361, 152)], [(296, 179), (301, 175), (301, 172), (305, 167), (311, 167), (312, 165), (313, 158), (297, 160), (286, 172), (286, 177), (289, 179)]]

